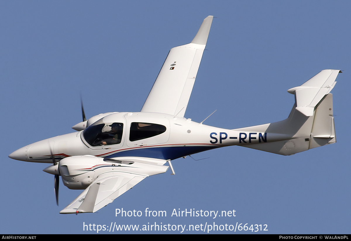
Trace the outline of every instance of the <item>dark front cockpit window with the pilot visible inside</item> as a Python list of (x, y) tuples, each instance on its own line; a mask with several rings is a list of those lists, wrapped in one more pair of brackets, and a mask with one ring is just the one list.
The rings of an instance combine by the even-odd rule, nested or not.
[(123, 123), (110, 123), (89, 126), (83, 131), (85, 141), (91, 146), (114, 145), (121, 143)]

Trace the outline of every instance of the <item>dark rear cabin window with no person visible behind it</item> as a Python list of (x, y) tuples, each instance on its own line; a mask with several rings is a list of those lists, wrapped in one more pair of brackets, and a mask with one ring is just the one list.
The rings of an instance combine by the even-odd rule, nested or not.
[(132, 122), (129, 140), (131, 142), (157, 136), (166, 131), (166, 126), (152, 123)]

